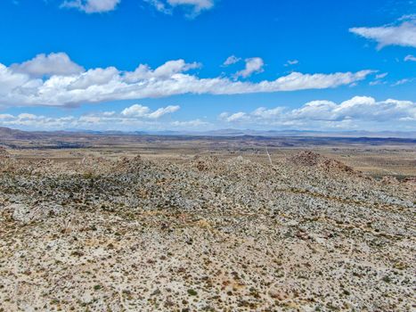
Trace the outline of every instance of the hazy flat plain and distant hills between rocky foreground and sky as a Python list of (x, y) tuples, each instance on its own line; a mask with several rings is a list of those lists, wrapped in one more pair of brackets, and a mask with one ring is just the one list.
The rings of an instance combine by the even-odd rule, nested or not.
[[(235, 132), (235, 130), (232, 130)], [(230, 133), (231, 130), (224, 131)], [(26, 132), (0, 127), (0, 145), (17, 158), (78, 161), (86, 154), (182, 161), (194, 155), (281, 160), (313, 149), (374, 177), (416, 176), (416, 138), (262, 135), (147, 135), (86, 132)], [(239, 132), (241, 134), (241, 132)]]

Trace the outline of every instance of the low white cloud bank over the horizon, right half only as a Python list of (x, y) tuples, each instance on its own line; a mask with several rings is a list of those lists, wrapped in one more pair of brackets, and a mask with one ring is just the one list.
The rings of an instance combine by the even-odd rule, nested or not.
[(218, 119), (225, 123), (244, 127), (295, 127), (322, 129), (331, 127), (371, 128), (401, 125), (416, 129), (416, 103), (387, 99), (377, 102), (368, 96), (355, 96), (342, 103), (313, 101), (298, 109), (284, 107), (255, 111), (223, 112)]

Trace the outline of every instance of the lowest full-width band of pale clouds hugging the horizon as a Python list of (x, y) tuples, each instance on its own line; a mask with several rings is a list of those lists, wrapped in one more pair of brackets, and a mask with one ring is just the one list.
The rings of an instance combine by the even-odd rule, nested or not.
[(320, 100), (296, 109), (283, 106), (259, 107), (254, 111), (223, 112), (217, 120), (173, 119), (179, 105), (151, 110), (136, 103), (122, 111), (102, 111), (74, 117), (47, 117), (31, 113), (0, 114), (0, 126), (29, 129), (92, 130), (194, 130), (232, 128), (298, 130), (403, 130), (416, 131), (416, 103), (387, 99), (376, 101), (369, 96), (355, 96), (342, 103)]

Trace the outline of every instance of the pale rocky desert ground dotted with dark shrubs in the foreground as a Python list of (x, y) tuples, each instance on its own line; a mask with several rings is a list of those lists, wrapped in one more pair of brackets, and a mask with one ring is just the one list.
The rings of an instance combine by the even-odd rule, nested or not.
[(412, 311), (416, 180), (0, 149), (0, 311)]

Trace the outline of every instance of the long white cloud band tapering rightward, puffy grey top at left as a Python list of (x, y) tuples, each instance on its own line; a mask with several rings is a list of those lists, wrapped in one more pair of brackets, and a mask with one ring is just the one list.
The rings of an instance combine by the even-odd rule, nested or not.
[[(262, 67), (262, 60), (249, 59), (239, 76), (248, 77)], [(224, 77), (199, 78), (189, 73), (198, 68), (198, 62), (175, 60), (155, 70), (146, 64), (140, 64), (133, 71), (115, 67), (84, 70), (70, 61), (65, 53), (40, 54), (29, 62), (9, 67), (0, 63), (0, 106), (77, 106), (176, 94), (253, 94), (324, 89), (354, 84), (373, 72), (292, 72), (275, 80), (253, 83)]]

